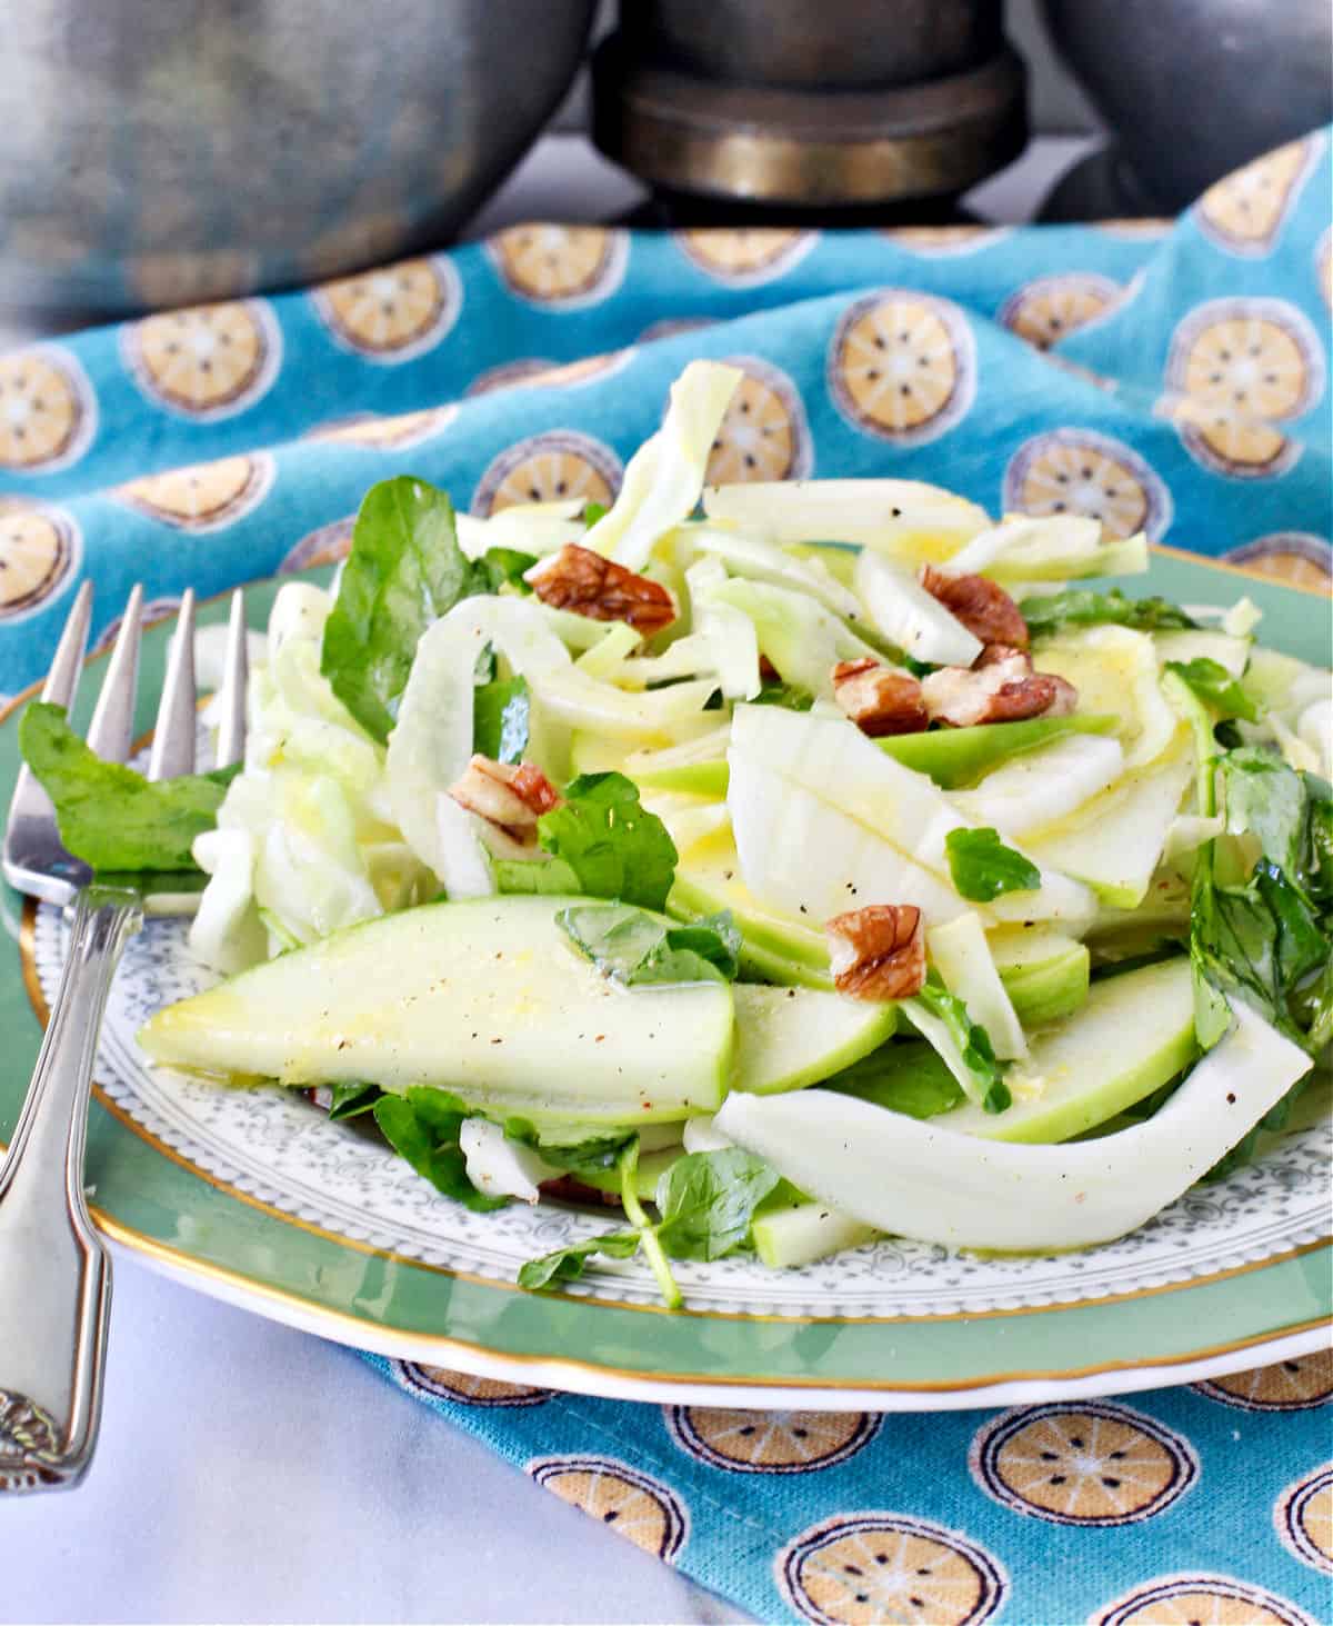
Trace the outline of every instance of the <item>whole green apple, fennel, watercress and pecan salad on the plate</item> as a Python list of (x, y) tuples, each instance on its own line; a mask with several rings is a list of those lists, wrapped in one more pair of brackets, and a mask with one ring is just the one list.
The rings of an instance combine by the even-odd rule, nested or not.
[(239, 769), (29, 706), (70, 850), (206, 876), (219, 980), (140, 1044), (470, 1208), (605, 1203), (528, 1288), (1122, 1236), (1328, 1065), (1330, 673), (1099, 584), (1148, 545), (1091, 519), (706, 489), (738, 380), (691, 364), (605, 511), (374, 486), (278, 592)]

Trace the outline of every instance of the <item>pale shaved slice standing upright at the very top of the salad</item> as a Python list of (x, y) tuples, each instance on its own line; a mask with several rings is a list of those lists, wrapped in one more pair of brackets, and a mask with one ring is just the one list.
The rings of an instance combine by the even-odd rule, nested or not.
[(658, 537), (688, 519), (722, 418), (743, 374), (719, 361), (691, 361), (671, 385), (662, 428), (631, 457), (616, 501), (582, 545), (640, 571)]

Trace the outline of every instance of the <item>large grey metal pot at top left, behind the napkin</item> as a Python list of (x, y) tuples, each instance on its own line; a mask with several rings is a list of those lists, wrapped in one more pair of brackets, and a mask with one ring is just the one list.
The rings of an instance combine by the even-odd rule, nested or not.
[(522, 158), (595, 0), (26, 0), (0, 306), (124, 312), (439, 244)]

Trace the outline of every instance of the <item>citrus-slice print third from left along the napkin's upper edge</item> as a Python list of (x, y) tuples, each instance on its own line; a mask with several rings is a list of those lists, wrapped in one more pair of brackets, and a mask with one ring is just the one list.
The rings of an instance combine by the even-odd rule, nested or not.
[(343, 348), (367, 361), (411, 361), (458, 320), (463, 285), (444, 255), (400, 260), (325, 283), (310, 294)]

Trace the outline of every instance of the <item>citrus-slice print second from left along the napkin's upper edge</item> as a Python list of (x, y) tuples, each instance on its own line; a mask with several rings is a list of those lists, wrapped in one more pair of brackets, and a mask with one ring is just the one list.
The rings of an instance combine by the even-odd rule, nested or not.
[(164, 311), (120, 330), (125, 364), (150, 400), (185, 418), (229, 418), (273, 382), (281, 333), (262, 299)]

